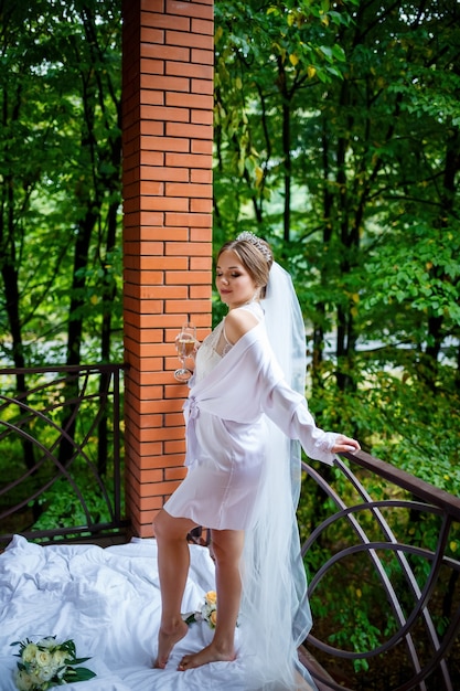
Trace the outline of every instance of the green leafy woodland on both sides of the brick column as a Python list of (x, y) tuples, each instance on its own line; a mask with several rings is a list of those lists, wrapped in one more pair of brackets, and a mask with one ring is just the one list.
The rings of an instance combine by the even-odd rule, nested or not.
[[(2, 363), (116, 361), (120, 2), (4, 0), (0, 19)], [(249, 230), (291, 273), (318, 423), (452, 495), (459, 57), (456, 0), (215, 2), (215, 248)], [(215, 300), (214, 319), (222, 313)], [(8, 386), (26, 384), (18, 375)], [(66, 511), (55, 493), (45, 523)], [(306, 485), (304, 534), (327, 508)], [(431, 544), (431, 525), (416, 531)], [(350, 615), (333, 589), (317, 607), (324, 618), (336, 610), (334, 626)], [(356, 648), (383, 630), (360, 613)]]

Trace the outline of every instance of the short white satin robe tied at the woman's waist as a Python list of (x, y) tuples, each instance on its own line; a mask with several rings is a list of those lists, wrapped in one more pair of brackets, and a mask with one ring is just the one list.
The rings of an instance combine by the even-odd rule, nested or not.
[(333, 463), (335, 435), (315, 426), (304, 397), (285, 382), (263, 321), (199, 383), (192, 380), (184, 417), (189, 472), (164, 509), (199, 525), (250, 527), (267, 454), (267, 417), (299, 439), (308, 456)]

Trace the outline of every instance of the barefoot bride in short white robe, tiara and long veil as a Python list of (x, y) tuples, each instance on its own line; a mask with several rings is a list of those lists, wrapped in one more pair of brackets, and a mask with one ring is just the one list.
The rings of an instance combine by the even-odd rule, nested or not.
[(311, 617), (296, 522), (300, 456), (290, 440), (329, 465), (335, 453), (360, 447), (318, 428), (308, 411), (304, 364), (300, 376), (292, 366), (303, 363), (301, 315), (269, 245), (250, 233), (226, 243), (216, 286), (228, 315), (196, 353), (184, 405), (188, 476), (154, 521), (162, 596), (156, 667), (165, 667), (186, 634), (185, 536), (203, 525), (216, 563), (217, 625), (211, 645), (185, 656), (179, 670), (234, 660), (238, 621), (245, 688), (291, 690)]

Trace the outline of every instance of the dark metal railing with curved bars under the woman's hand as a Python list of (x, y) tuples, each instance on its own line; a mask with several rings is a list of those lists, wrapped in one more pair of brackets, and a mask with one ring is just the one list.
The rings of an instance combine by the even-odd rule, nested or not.
[(302, 546), (319, 688), (458, 690), (460, 499), (363, 451), (303, 470), (322, 512)]

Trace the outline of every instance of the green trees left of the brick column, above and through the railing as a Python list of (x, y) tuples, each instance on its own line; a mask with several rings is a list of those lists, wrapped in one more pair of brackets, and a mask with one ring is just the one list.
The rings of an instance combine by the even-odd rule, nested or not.
[[(56, 443), (55, 429), (26, 421), (28, 405), (49, 413), (55, 405), (50, 416), (78, 444), (95, 411), (82, 405), (73, 422), (75, 383), (61, 381), (38, 401), (50, 375), (26, 369), (122, 359), (121, 3), (4, 0), (0, 28), (0, 361), (20, 368), (0, 383), (0, 489), (21, 477), (25, 496), (50, 485), (56, 468), (43, 460), (40, 444), (54, 449), (79, 486), (93, 521), (104, 522), (107, 506), (84, 454), (71, 468), (73, 451)], [(9, 396), (23, 407), (8, 404)], [(8, 424), (22, 426), (24, 436), (9, 435)], [(85, 453), (110, 485), (107, 418), (97, 434)], [(12, 487), (0, 509), (23, 501)], [(26, 528), (34, 520), (36, 529), (86, 524), (74, 490), (51, 483), (19, 520)]]

